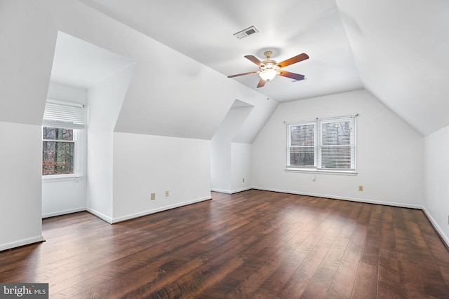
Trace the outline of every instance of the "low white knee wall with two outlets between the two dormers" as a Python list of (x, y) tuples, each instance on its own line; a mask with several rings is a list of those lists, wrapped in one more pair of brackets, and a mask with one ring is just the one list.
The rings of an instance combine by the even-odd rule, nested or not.
[(210, 141), (114, 133), (112, 222), (210, 198)]

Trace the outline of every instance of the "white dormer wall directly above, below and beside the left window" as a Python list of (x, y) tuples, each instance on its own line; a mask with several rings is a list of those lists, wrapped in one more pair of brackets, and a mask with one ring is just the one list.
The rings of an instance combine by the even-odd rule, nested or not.
[[(50, 82), (48, 85), (48, 99), (85, 105), (85, 119), (87, 109), (87, 90), (65, 84)], [(84, 132), (86, 133), (86, 132)], [(86, 134), (82, 134), (80, 158), (81, 169), (86, 171)], [(83, 211), (86, 209), (86, 173), (79, 174), (81, 179), (42, 179), (42, 217)]]

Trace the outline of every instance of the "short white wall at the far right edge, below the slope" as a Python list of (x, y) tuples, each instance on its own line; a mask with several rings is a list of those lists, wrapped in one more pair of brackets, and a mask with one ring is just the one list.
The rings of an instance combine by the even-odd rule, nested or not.
[(449, 127), (428, 135), (424, 141), (424, 211), (449, 246)]

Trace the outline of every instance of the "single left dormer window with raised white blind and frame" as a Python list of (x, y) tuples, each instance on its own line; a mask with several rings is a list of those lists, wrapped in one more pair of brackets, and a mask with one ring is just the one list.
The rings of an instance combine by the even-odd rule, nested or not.
[(47, 100), (42, 127), (42, 175), (79, 176), (83, 106)]

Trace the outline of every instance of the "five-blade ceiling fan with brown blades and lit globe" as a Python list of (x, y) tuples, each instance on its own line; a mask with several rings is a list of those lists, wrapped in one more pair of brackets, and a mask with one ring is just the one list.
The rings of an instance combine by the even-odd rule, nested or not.
[(227, 78), (234, 78), (250, 74), (259, 74), (260, 81), (259, 84), (257, 84), (257, 88), (261, 88), (263, 85), (265, 85), (265, 82), (272, 80), (276, 75), (292, 78), (295, 80), (303, 80), (305, 78), (304, 75), (290, 73), (290, 71), (284, 71), (282, 68), (287, 67), (290, 64), (309, 59), (309, 55), (307, 55), (306, 53), (296, 55), (295, 57), (291, 57), (288, 60), (284, 60), (283, 62), (279, 63), (271, 59), (272, 51), (266, 51), (264, 53), (264, 56), (266, 57), (266, 60), (264, 61), (258, 60), (257, 57), (253, 55), (245, 56), (248, 60), (257, 64), (257, 67), (259, 67), (259, 71), (250, 71), (248, 73), (236, 74), (227, 76)]

